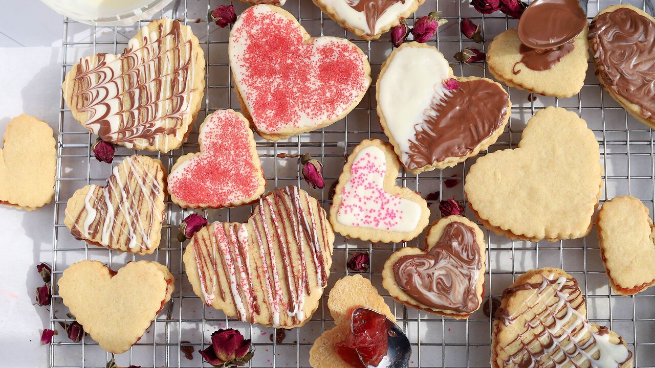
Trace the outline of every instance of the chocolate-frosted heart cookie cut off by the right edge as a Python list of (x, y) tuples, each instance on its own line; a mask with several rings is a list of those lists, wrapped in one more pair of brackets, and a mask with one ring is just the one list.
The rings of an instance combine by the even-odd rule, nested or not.
[(608, 94), (655, 128), (655, 18), (632, 5), (607, 7), (591, 21), (589, 47)]

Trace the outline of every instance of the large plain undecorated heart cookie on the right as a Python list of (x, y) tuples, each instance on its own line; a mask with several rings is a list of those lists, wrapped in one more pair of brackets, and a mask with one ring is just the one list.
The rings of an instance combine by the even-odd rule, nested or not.
[(477, 158), (464, 191), (485, 227), (512, 239), (581, 238), (601, 196), (598, 142), (576, 113), (546, 107), (516, 149)]

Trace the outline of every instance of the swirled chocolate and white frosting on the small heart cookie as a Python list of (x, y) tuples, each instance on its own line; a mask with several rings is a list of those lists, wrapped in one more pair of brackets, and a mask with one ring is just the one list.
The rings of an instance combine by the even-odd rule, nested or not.
[(467, 313), (479, 307), (476, 283), (481, 267), (476, 232), (453, 222), (427, 254), (400, 257), (394, 274), (400, 288), (422, 304)]

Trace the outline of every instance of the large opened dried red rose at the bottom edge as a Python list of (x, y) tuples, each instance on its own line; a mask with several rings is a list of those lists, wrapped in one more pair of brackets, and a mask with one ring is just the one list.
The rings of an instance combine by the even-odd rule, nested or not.
[(243, 335), (235, 329), (214, 331), (212, 344), (198, 352), (214, 367), (246, 365), (254, 355), (254, 350), (250, 350), (250, 340), (244, 339)]

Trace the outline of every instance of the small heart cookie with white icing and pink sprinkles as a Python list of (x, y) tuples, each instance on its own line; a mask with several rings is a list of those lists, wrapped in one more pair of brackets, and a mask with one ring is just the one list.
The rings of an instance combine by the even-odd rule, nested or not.
[(412, 240), (428, 226), (430, 210), (411, 189), (398, 187), (400, 163), (389, 143), (365, 139), (339, 176), (329, 222), (336, 232), (371, 242)]

